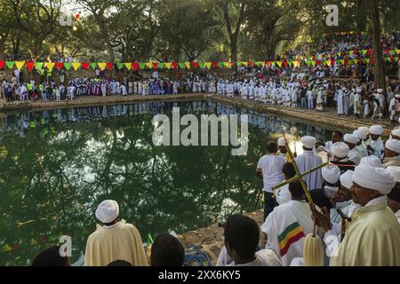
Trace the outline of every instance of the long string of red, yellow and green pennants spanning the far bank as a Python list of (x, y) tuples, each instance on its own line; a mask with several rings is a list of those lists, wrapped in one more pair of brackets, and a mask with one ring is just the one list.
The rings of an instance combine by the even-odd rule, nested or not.
[[(397, 62), (400, 58), (400, 50), (385, 50), (384, 60), (390, 63)], [(35, 62), (35, 61), (0, 61), (0, 69), (12, 69), (16, 67), (18, 70), (21, 70), (23, 67), (27, 68), (28, 71), (32, 71), (34, 68), (44, 74), (44, 70), (52, 72), (54, 68), (58, 70), (89, 70), (100, 68), (100, 70), (104, 71), (106, 69), (112, 70), (116, 68), (118, 70), (122, 70), (126, 68), (131, 71), (138, 71), (143, 69), (191, 69), (191, 68), (207, 68), (211, 67), (220, 67), (220, 68), (232, 68), (232, 67), (300, 67), (300, 65), (307, 65), (308, 67), (313, 66), (327, 66), (330, 67), (335, 63), (341, 66), (351, 66), (354, 64), (372, 64), (370, 58), (361, 58), (360, 56), (366, 56), (368, 54), (370, 57), (372, 55), (372, 50), (354, 50), (354, 51), (338, 51), (333, 53), (319, 53), (311, 57), (303, 57), (297, 56), (294, 59), (279, 59), (279, 60), (267, 60), (267, 61), (237, 61), (237, 62), (223, 62), (223, 61), (193, 61), (193, 62), (156, 62), (156, 61), (148, 61), (148, 62)], [(335, 59), (335, 56), (343, 57), (345, 55), (357, 56), (354, 59), (344, 58), (344, 59)]]

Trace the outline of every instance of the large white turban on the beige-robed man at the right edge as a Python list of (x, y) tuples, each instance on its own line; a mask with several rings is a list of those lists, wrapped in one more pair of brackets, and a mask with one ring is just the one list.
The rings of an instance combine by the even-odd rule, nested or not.
[(384, 195), (390, 193), (396, 185), (395, 179), (389, 174), (388, 170), (371, 167), (366, 164), (360, 164), (356, 167), (353, 182)]

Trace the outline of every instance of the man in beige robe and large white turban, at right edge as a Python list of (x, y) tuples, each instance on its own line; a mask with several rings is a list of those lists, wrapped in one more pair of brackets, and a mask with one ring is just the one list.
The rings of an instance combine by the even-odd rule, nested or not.
[[(387, 194), (396, 182), (388, 170), (361, 163), (353, 174), (351, 194), (360, 204), (347, 223), (339, 248), (333, 252), (332, 266), (398, 266), (400, 265), (400, 226), (388, 208)], [(316, 225), (332, 233), (329, 215), (313, 210)]]

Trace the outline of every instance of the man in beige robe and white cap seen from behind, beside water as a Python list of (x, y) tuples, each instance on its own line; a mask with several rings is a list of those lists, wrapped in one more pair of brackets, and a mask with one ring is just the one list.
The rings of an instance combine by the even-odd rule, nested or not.
[(134, 225), (118, 219), (116, 201), (103, 201), (96, 217), (103, 223), (86, 243), (85, 266), (106, 266), (115, 260), (125, 260), (133, 266), (148, 266), (140, 233)]

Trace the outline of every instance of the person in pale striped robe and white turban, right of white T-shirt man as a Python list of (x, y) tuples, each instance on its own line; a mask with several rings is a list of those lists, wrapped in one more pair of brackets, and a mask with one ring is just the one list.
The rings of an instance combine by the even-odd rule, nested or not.
[[(301, 143), (303, 144), (303, 154), (300, 154), (295, 160), (300, 172), (305, 172), (316, 168), (316, 166), (323, 163), (320, 156), (314, 154), (314, 146), (316, 145), (316, 138), (311, 136), (302, 137)], [(307, 183), (308, 190), (321, 188), (323, 185), (321, 169), (312, 172), (304, 177)]]

